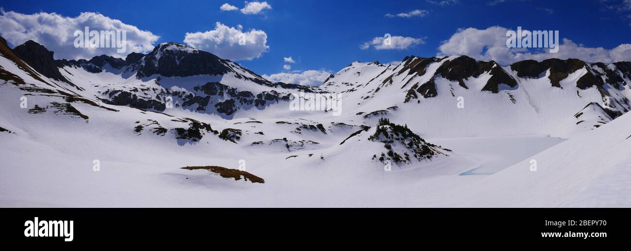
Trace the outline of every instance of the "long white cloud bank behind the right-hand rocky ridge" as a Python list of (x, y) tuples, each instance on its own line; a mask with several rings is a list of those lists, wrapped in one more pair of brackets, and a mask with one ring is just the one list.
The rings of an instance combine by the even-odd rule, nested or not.
[(631, 44), (604, 49), (603, 47), (585, 47), (563, 38), (558, 47), (558, 53), (549, 53), (548, 49), (508, 48), (506, 46), (507, 31), (509, 29), (501, 26), (492, 26), (484, 30), (460, 29), (449, 40), (442, 42), (437, 55), (468, 55), (478, 60), (493, 60), (504, 65), (526, 59), (542, 61), (550, 58), (573, 58), (605, 63), (631, 61)]

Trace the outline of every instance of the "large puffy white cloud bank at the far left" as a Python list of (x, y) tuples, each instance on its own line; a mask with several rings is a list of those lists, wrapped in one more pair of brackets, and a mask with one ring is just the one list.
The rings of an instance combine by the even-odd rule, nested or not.
[[(76, 48), (74, 32), (84, 31), (126, 31), (126, 51), (118, 53), (117, 48)], [(126, 57), (131, 52), (148, 52), (158, 36), (140, 30), (98, 13), (85, 12), (76, 17), (62, 16), (57, 13), (35, 13), (26, 15), (0, 9), (0, 35), (14, 47), (28, 40), (33, 40), (55, 52), (56, 59), (90, 59), (95, 55)]]

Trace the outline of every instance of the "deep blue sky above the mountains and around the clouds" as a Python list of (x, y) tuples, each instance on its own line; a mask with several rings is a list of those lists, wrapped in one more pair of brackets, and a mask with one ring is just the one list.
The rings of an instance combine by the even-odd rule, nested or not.
[[(353, 61), (400, 61), (406, 55), (433, 56), (441, 42), (459, 28), (559, 30), (583, 47), (606, 50), (631, 42), (631, 3), (621, 1), (312, 1), (267, 0), (271, 9), (257, 15), (221, 11), (228, 3), (243, 8), (244, 1), (4, 1), (4, 11), (39, 12), (76, 17), (95, 12), (159, 36), (156, 43), (184, 43), (187, 32), (206, 32), (220, 22), (229, 27), (266, 33), (267, 52), (251, 61), (238, 61), (259, 74), (325, 69), (338, 71)], [(440, 0), (437, 0), (440, 2)], [(628, 8), (627, 8), (628, 6)], [(385, 16), (413, 10), (427, 11), (410, 18)], [(4, 27), (3, 27), (4, 29)], [(403, 50), (362, 50), (360, 45), (384, 33), (420, 38)], [(6, 34), (3, 33), (3, 37)], [(9, 39), (8, 39), (9, 40)], [(11, 40), (9, 40), (11, 42)], [(154, 44), (156, 45), (156, 44)], [(15, 45), (14, 45), (15, 46)], [(295, 63), (283, 61), (291, 56)], [(290, 70), (283, 65), (290, 65)]]

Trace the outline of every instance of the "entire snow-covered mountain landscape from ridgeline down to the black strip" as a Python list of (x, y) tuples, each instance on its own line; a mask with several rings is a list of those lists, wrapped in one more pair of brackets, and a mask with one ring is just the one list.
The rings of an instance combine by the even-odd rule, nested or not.
[[(631, 135), (630, 62), (408, 56), (353, 62), (312, 87), (177, 43), (54, 60), (36, 42), (11, 49), (0, 39), (0, 54), (0, 204), (560, 206), (574, 196), (603, 205), (591, 204), (607, 192), (603, 175), (628, 163), (617, 137)], [(338, 95), (341, 114), (293, 109), (300, 92)], [(616, 145), (601, 149), (599, 136)], [(514, 170), (533, 156), (558, 163), (545, 186), (580, 165), (573, 158), (604, 169), (579, 166), (563, 192), (515, 201), (533, 180)], [(184, 166), (243, 166), (265, 183)], [(507, 196), (476, 194), (493, 189)]]

